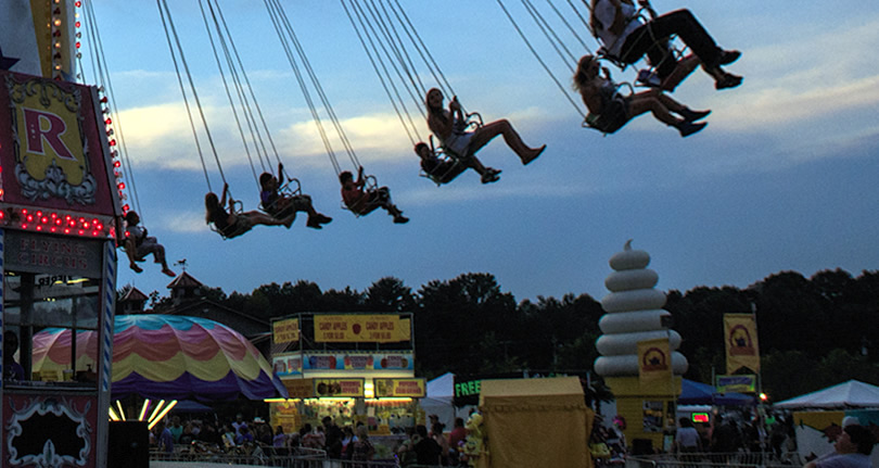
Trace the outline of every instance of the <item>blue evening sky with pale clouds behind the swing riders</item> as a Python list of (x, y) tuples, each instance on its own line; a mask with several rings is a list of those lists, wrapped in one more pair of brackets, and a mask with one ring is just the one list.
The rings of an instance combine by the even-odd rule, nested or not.
[[(169, 3), (222, 169), (253, 210), (257, 189), (198, 3)], [(224, 0), (282, 161), (334, 220), (322, 231), (300, 217), (290, 230), (256, 227), (220, 239), (204, 224), (207, 186), (155, 3), (93, 0), (142, 218), (169, 258), (187, 258), (188, 271), (207, 286), (250, 292), (305, 279), (323, 290), (364, 290), (394, 276), (418, 290), (473, 271), (495, 275), (520, 301), (569, 292), (600, 299), (608, 260), (627, 239), (651, 254), (663, 290), (743, 288), (789, 269), (857, 275), (879, 265), (877, 3), (655, 1), (660, 12), (691, 9), (719, 45), (743, 52), (729, 67), (744, 76), (741, 87), (715, 91), (697, 72), (677, 89), (677, 100), (713, 111), (704, 131), (681, 139), (649, 115), (608, 137), (581, 128), (497, 2), (444, 0), (437, 8), (404, 0), (468, 110), (486, 121), (509, 118), (527, 143), (548, 146), (522, 166), (498, 138), (479, 155), (504, 169), (499, 182), (483, 186), (466, 173), (440, 188), (419, 177), (341, 4), (284, 3), (358, 159), (391, 187), (408, 225), (393, 225), (383, 212), (356, 218), (341, 208), (333, 167), (263, 2)], [(527, 23), (519, 2), (505, 3)], [(568, 86), (563, 67), (556, 69)], [(632, 72), (612, 72), (632, 79)], [(216, 174), (212, 184), (218, 190)], [(119, 284), (166, 293), (168, 278), (157, 267), (119, 271)]]

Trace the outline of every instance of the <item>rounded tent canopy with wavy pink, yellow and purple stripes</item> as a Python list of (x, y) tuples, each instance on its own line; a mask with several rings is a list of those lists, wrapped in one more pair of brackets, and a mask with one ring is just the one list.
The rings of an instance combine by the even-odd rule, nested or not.
[[(71, 368), (71, 330), (46, 329), (34, 336), (33, 368)], [(76, 369), (94, 365), (98, 333), (76, 337)], [(113, 334), (114, 400), (204, 402), (286, 397), (286, 389), (254, 345), (214, 320), (174, 315), (119, 315)]]

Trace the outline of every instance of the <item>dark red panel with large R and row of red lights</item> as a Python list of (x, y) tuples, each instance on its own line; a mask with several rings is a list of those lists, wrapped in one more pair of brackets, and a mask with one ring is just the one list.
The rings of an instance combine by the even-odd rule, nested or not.
[(11, 228), (112, 236), (119, 192), (93, 88), (0, 72), (0, 219)]

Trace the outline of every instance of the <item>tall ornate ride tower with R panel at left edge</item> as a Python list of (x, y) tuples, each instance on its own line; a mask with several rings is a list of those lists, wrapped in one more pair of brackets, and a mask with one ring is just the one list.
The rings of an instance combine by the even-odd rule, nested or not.
[[(72, 83), (81, 1), (0, 7), (2, 467), (106, 466), (123, 208), (105, 110)], [(35, 372), (31, 338), (73, 340), (69, 368)], [(80, 333), (82, 336), (93, 333)], [(86, 356), (95, 365), (85, 365)]]

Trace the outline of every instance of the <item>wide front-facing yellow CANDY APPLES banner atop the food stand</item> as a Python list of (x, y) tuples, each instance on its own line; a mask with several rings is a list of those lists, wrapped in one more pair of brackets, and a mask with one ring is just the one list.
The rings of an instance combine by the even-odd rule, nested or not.
[(409, 319), (398, 315), (315, 315), (315, 341), (394, 343), (409, 341)]

